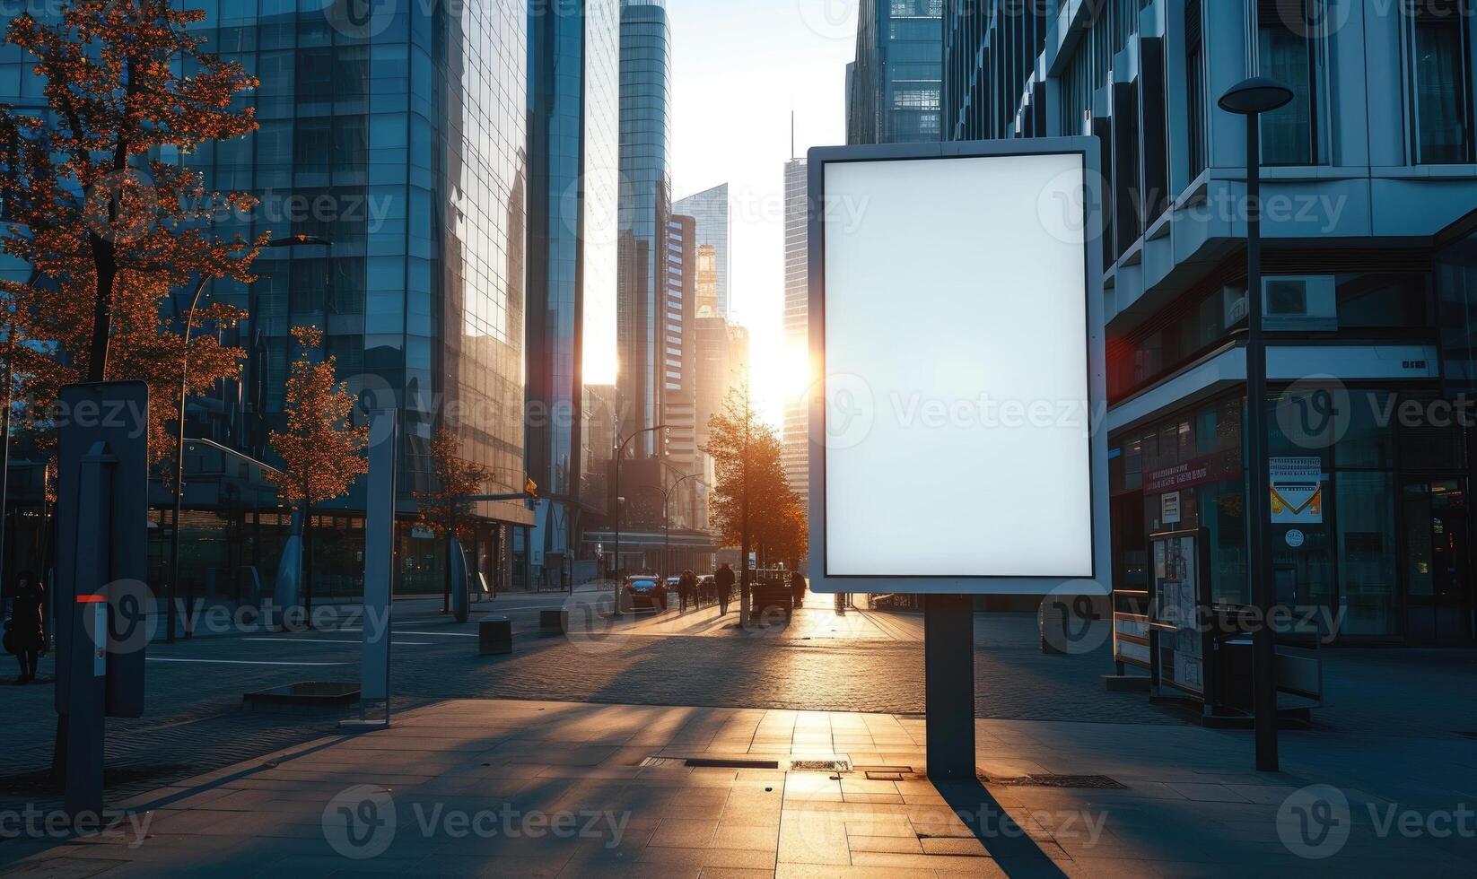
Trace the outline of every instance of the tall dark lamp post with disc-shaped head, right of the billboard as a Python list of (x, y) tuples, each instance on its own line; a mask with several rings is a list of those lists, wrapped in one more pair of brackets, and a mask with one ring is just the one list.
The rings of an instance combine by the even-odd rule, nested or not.
[(1270, 610), (1276, 604), (1272, 569), (1272, 499), (1267, 461), (1267, 344), (1261, 326), (1261, 114), (1286, 106), (1292, 90), (1267, 77), (1252, 77), (1221, 95), (1220, 108), (1247, 117), (1247, 451), (1251, 492), (1251, 598), (1261, 616), (1252, 634), (1252, 708), (1255, 711), (1257, 770), (1278, 771), (1276, 632)]

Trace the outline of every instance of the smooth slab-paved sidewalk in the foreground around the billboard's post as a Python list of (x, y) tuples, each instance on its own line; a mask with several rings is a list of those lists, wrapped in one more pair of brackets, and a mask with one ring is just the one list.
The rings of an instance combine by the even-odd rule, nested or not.
[[(0, 869), (642, 879), (1477, 872), (1477, 743), (1289, 733), (1284, 773), (1258, 774), (1245, 733), (982, 719), (976, 739), (988, 783), (935, 786), (922, 776), (916, 716), (448, 700), (385, 731), (323, 737), (111, 804), (133, 811), (103, 835), (7, 842)], [(846, 761), (840, 771), (792, 762), (835, 759)], [(1027, 776), (1068, 786), (1010, 781)]]

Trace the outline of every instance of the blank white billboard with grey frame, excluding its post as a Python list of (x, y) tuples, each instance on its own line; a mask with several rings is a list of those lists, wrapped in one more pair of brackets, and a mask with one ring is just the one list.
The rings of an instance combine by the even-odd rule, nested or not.
[(1106, 594), (1096, 140), (809, 154), (811, 588)]

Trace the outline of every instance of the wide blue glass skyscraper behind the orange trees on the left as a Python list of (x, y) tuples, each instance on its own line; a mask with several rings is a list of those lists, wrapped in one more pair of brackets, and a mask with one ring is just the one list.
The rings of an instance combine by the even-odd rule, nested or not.
[[(442, 541), (411, 521), (414, 492), (433, 488), (434, 431), (453, 430), (461, 455), (492, 468), (489, 493), (524, 482), (526, 3), (461, 15), (439, 3), (363, 15), (341, 0), (189, 6), (205, 13), (191, 27), (202, 49), (260, 80), (238, 98), (256, 109), (254, 134), (179, 158), (210, 186), (260, 199), (217, 230), (332, 244), (263, 251), (254, 284), (219, 281), (207, 294), (250, 315), (213, 328), (248, 359), (239, 384), (191, 400), (186, 434), (213, 445), (186, 454), (183, 576), (227, 591), (256, 567), (270, 594), (288, 517), (232, 468), (239, 455), (273, 462), (267, 434), (285, 424), (295, 359), (289, 329), (315, 325), (325, 332), (316, 356), (335, 356), (352, 390), (388, 390), (402, 409), (396, 588), (440, 591)], [(0, 47), (0, 100), (40, 108), (32, 65)], [(313, 508), (319, 598), (362, 588), (363, 488)], [(470, 561), (495, 581), (508, 570), (508, 526), (532, 516), (523, 504), (479, 504), (476, 514)], [(161, 538), (173, 524), (155, 521)]]

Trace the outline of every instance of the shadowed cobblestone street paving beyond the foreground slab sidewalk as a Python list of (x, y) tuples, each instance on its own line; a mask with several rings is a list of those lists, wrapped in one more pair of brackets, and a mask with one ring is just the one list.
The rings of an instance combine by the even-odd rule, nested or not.
[[(594, 703), (851, 711), (917, 715), (923, 711), (923, 644), (917, 616), (849, 613), (827, 623), (829, 609), (806, 609), (793, 629), (756, 632), (693, 616), (632, 618), (606, 623), (586, 613), (588, 595), (499, 598), (476, 615), (511, 610), (515, 651), (477, 656), (476, 625), (456, 625), (437, 603), (397, 604), (393, 647), (396, 709), (439, 699), (502, 697)], [(569, 606), (572, 634), (538, 635), (539, 609)], [(709, 618), (710, 618), (709, 612)], [(734, 615), (730, 613), (730, 618)], [(580, 626), (578, 620), (592, 620)], [(707, 619), (707, 622), (703, 622)], [(866, 625), (860, 620), (871, 619)], [(697, 628), (697, 634), (671, 634)], [(250, 632), (152, 644), (148, 716), (108, 722), (108, 759), (117, 792), (143, 790), (272, 749), (322, 736), (337, 718), (248, 714), (244, 693), (297, 681), (356, 681), (359, 631), (281, 635)], [(1029, 615), (976, 615), (976, 715), (1019, 721), (1185, 724), (1143, 694), (1108, 693), (1108, 646), (1072, 656), (1038, 650)], [(1412, 718), (1413, 736), (1477, 731), (1477, 651), (1325, 653), (1332, 705), (1319, 725), (1343, 731), (1388, 730)], [(50, 675), (50, 660), (43, 669)], [(1462, 699), (1459, 693), (1468, 694)], [(1385, 714), (1382, 705), (1399, 706)], [(0, 685), (0, 802), (46, 795), (55, 714), (52, 687)]]

